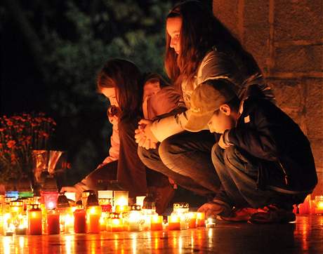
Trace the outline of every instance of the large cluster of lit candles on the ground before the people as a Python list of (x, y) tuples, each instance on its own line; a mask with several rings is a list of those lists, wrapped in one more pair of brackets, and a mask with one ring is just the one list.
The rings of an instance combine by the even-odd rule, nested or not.
[[(0, 228), (4, 235), (95, 233), (103, 231), (180, 230), (214, 227), (214, 220), (205, 220), (204, 213), (189, 211), (187, 203), (174, 203), (168, 222), (155, 212), (154, 204), (137, 197), (137, 204), (128, 206), (128, 192), (85, 191), (75, 203), (75, 193), (40, 197), (2, 197)], [(0, 196), (1, 198), (1, 196)], [(145, 204), (144, 204), (145, 203)], [(72, 204), (72, 206), (71, 206)]]

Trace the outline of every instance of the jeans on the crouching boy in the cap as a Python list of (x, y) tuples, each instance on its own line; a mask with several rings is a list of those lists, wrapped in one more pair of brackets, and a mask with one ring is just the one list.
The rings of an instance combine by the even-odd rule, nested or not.
[(212, 161), (222, 185), (216, 199), (230, 206), (261, 208), (276, 204), (290, 209), (294, 203), (301, 203), (307, 195), (258, 189), (258, 168), (261, 161), (238, 147), (222, 149), (218, 144), (214, 145)]

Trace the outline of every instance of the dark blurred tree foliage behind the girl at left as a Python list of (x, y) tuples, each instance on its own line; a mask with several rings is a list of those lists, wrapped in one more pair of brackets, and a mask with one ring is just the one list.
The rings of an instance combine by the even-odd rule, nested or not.
[(164, 18), (173, 4), (171, 0), (0, 4), (1, 38), (5, 38), (1, 65), (6, 66), (1, 70), (1, 111), (46, 111), (55, 118), (54, 145), (70, 154), (70, 184), (107, 155), (109, 102), (95, 92), (98, 70), (110, 58), (126, 58), (144, 72), (163, 74)]

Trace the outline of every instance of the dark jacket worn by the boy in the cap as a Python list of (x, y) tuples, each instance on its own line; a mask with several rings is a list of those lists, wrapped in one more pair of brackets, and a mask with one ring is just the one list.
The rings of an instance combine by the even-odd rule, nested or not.
[(298, 124), (253, 93), (252, 87), (242, 108), (237, 126), (228, 132), (228, 142), (258, 164), (258, 187), (285, 193), (312, 192), (317, 185), (315, 162), (310, 142)]

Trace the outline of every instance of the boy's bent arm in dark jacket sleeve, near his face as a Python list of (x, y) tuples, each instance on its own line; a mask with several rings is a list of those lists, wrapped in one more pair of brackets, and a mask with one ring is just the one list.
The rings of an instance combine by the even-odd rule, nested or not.
[(244, 117), (244, 126), (231, 128), (224, 133), (225, 143), (241, 147), (255, 157), (277, 161), (283, 150), (283, 141), (279, 140), (282, 135), (279, 132), (284, 130), (282, 122), (279, 121), (282, 120), (279, 119), (279, 110), (271, 102), (263, 100), (253, 113), (240, 116)]

